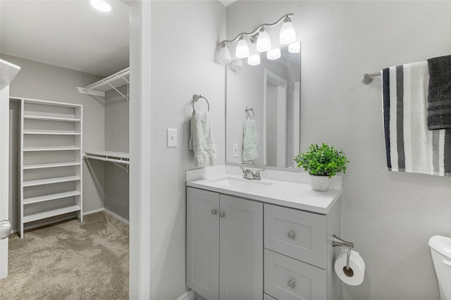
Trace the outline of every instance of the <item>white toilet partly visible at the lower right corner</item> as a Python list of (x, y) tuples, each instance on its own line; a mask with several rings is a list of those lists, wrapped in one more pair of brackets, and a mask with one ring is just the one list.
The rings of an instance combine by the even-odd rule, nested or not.
[(451, 300), (451, 237), (434, 235), (429, 239), (437, 275), (440, 300)]

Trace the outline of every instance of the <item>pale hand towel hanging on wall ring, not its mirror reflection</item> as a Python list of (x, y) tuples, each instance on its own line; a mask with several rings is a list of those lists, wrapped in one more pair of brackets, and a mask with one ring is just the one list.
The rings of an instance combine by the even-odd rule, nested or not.
[(209, 112), (194, 111), (191, 116), (190, 150), (194, 151), (194, 165), (214, 165), (213, 134)]

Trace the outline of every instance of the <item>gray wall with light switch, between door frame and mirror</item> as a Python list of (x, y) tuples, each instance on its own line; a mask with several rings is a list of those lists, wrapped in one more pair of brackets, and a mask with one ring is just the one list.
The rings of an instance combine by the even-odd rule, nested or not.
[[(186, 290), (185, 170), (194, 168), (188, 149), (194, 93), (209, 99), (216, 164), (224, 164), (225, 70), (214, 60), (226, 36), (226, 8), (219, 1), (151, 1), (150, 21), (150, 290), (151, 299), (177, 299)], [(166, 147), (167, 128), (178, 130), (175, 148)]]

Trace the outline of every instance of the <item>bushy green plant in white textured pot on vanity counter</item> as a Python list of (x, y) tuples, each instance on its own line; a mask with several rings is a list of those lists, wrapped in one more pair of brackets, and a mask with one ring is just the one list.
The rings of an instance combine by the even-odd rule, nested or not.
[(349, 163), (342, 150), (323, 143), (323, 146), (311, 144), (305, 153), (295, 156), (297, 168), (303, 167), (309, 173), (310, 185), (315, 191), (327, 191), (332, 185), (332, 177), (337, 173), (346, 173)]

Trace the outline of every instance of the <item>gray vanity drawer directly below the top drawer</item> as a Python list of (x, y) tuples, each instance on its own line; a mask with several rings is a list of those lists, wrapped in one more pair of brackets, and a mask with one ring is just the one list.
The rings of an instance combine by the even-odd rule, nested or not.
[(326, 270), (264, 250), (264, 292), (276, 299), (326, 299)]

